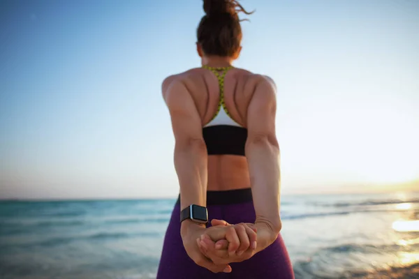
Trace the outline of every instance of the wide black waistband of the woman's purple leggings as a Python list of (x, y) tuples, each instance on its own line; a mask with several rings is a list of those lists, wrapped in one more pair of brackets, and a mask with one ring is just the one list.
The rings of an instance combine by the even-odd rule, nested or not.
[[(207, 191), (207, 206), (219, 204), (241, 204), (243, 202), (252, 202), (251, 188)], [(180, 204), (180, 194), (177, 197), (176, 204)]]

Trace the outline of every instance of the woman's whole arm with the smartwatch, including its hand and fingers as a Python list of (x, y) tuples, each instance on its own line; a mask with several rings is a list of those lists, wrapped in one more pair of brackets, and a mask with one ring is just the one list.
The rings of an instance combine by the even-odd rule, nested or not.
[[(181, 209), (190, 204), (206, 205), (207, 199), (207, 146), (203, 139), (202, 123), (196, 105), (188, 89), (182, 80), (169, 77), (163, 82), (163, 98), (168, 106), (172, 119), (172, 129), (175, 135), (175, 169), (180, 185)], [(234, 253), (240, 246), (240, 240), (247, 239), (242, 245), (243, 249), (249, 247), (249, 236), (256, 241), (256, 234), (244, 227), (237, 226), (241, 234), (237, 236), (234, 226), (211, 227), (210, 232), (216, 234), (219, 239), (227, 239), (234, 243)], [(207, 232), (205, 225), (184, 220), (181, 225), (181, 236), (184, 248), (196, 264), (213, 272), (230, 272), (231, 267), (227, 263), (214, 264), (204, 257), (198, 248), (198, 239)], [(252, 237), (253, 236), (253, 237)], [(218, 239), (217, 239), (218, 240)], [(247, 247), (244, 247), (246, 246)]]

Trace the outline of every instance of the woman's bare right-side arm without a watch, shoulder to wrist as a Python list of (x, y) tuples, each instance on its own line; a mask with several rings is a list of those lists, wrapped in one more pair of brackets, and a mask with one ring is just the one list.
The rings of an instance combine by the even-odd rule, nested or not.
[(248, 137), (246, 157), (249, 164), (253, 204), (256, 211), (258, 248), (269, 246), (281, 230), (279, 216), (279, 144), (275, 134), (276, 89), (272, 80), (258, 82), (247, 109)]

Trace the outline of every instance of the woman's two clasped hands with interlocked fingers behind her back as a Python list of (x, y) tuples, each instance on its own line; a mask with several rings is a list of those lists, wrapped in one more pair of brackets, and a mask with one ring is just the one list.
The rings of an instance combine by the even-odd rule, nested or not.
[(212, 220), (212, 227), (196, 226), (182, 236), (184, 247), (193, 261), (217, 272), (231, 272), (231, 262), (242, 262), (256, 253), (256, 227), (251, 223), (230, 225)]

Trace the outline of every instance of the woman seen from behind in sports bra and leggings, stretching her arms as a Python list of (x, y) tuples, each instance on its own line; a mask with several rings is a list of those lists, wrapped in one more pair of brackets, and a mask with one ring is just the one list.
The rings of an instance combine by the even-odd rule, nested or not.
[(293, 278), (279, 234), (274, 82), (232, 66), (242, 49), (242, 6), (204, 0), (204, 10), (202, 68), (162, 85), (180, 195), (157, 278)]

